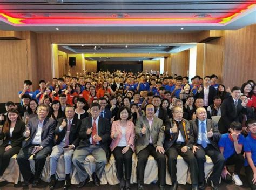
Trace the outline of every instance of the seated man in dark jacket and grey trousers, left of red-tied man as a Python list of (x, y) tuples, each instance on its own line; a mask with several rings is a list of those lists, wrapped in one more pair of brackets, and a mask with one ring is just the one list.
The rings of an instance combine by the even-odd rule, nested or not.
[(55, 187), (57, 162), (62, 154), (64, 154), (66, 174), (64, 189), (67, 189), (70, 186), (72, 156), (75, 148), (79, 145), (78, 134), (81, 126), (81, 121), (74, 116), (75, 108), (71, 105), (67, 105), (65, 108), (65, 117), (58, 119), (58, 124), (55, 129), (57, 139), (50, 155), (50, 189), (54, 189)]

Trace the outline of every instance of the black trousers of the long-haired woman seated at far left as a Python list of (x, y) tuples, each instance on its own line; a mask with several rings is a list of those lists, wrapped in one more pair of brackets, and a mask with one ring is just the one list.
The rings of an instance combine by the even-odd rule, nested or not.
[(4, 174), (5, 169), (8, 167), (10, 159), (13, 155), (18, 154), (21, 147), (13, 147), (8, 151), (4, 151), (5, 147), (0, 147), (0, 176)]

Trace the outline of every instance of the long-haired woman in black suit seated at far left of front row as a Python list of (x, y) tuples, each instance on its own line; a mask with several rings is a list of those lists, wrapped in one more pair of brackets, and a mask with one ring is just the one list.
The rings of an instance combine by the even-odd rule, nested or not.
[(0, 129), (0, 140), (4, 139), (3, 144), (0, 145), (0, 177), (8, 167), (10, 158), (19, 153), (26, 128), (16, 109), (9, 110), (7, 116), (3, 128)]

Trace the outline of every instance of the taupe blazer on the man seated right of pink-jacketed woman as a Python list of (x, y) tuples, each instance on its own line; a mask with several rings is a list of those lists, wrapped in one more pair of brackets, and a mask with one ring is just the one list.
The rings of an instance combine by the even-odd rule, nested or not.
[[(146, 134), (142, 134), (140, 131), (143, 128), (143, 125), (146, 125)], [(144, 148), (149, 145), (150, 142), (150, 135), (152, 138), (152, 144), (154, 147), (161, 146), (163, 147), (164, 143), (164, 126), (163, 120), (157, 118), (156, 116), (153, 117), (151, 130), (149, 126), (149, 121), (147, 120), (146, 116), (142, 116), (137, 119), (136, 121), (136, 146), (135, 151), (138, 154), (139, 151), (143, 150)]]

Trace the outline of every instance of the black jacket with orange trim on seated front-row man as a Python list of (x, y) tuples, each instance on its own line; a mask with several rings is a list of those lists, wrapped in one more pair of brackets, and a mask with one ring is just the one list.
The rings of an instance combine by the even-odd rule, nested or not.
[[(186, 119), (183, 119), (183, 121), (185, 122), (185, 131), (183, 128), (181, 128), (181, 130), (178, 127), (178, 131), (181, 132), (183, 139), (185, 140), (186, 146), (190, 147), (191, 149), (193, 148), (194, 145), (194, 134), (193, 134), (193, 130), (190, 129), (190, 122)], [(170, 119), (170, 124), (171, 125), (166, 125), (165, 126), (165, 140), (164, 140), (164, 149), (165, 151), (168, 151), (169, 148), (176, 142), (176, 140), (178, 139), (179, 133), (172, 133), (170, 134), (170, 128), (173, 127), (173, 118)], [(186, 133), (186, 135), (185, 135)], [(186, 141), (186, 136), (187, 136), (187, 141)]]

